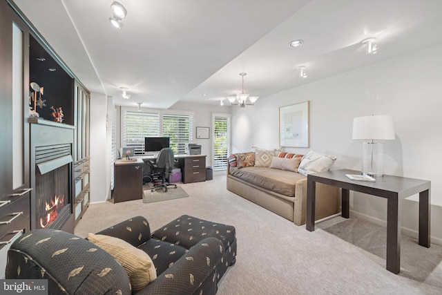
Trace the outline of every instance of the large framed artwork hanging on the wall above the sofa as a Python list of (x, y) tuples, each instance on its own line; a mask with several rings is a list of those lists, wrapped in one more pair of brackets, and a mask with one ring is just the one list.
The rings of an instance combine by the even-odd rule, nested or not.
[(309, 102), (279, 108), (279, 144), (309, 147)]

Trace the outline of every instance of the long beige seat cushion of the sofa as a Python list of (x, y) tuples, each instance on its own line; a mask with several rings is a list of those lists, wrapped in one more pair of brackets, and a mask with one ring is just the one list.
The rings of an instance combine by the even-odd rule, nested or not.
[(304, 175), (299, 173), (256, 166), (244, 167), (242, 169), (232, 167), (229, 173), (244, 182), (255, 184), (258, 187), (269, 189), (288, 197), (295, 196), (296, 182), (305, 178)]

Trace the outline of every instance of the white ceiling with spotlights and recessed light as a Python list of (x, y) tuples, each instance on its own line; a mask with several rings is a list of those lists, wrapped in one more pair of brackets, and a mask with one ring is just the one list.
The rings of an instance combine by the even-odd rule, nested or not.
[[(122, 30), (108, 21), (112, 0), (15, 0), (89, 91), (121, 105), (219, 104), (241, 91), (241, 72), (244, 92), (264, 97), (442, 44), (440, 0), (120, 2)], [(378, 38), (376, 55), (366, 37)]]

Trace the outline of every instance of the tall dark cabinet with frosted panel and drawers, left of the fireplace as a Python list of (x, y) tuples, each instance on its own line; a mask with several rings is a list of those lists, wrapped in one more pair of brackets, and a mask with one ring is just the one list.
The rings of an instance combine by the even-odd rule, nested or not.
[(29, 36), (26, 23), (0, 1), (0, 272), (10, 243), (30, 229)]

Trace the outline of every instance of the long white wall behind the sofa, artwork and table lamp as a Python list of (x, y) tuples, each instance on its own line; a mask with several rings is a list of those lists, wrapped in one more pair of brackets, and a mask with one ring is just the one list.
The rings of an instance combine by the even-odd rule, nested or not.
[[(432, 242), (442, 244), (442, 45), (388, 59), (318, 82), (260, 97), (255, 106), (232, 108), (233, 152), (279, 144), (279, 107), (310, 101), (310, 147), (288, 151), (336, 155), (332, 169), (361, 169), (361, 142), (352, 121), (363, 115), (393, 115), (396, 140), (385, 141), (386, 174), (432, 181)], [(382, 54), (381, 52), (378, 54)], [(310, 73), (309, 77), (314, 75)], [(308, 78), (307, 78), (308, 79)], [(266, 120), (262, 120), (266, 118)], [(417, 196), (403, 202), (403, 230), (416, 236)], [(385, 222), (386, 200), (354, 193), (351, 209)]]

